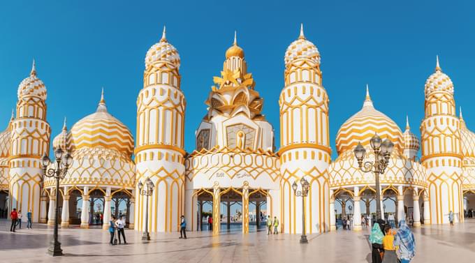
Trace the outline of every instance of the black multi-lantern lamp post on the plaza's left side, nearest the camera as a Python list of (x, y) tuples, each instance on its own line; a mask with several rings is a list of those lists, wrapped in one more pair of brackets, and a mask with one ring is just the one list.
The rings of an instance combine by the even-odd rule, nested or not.
[[(49, 157), (46, 156), (46, 153), (43, 154), (41, 158), (41, 162), (43, 164), (43, 176), (52, 177), (56, 179), (56, 207), (54, 210), (54, 234), (53, 240), (51, 241), (50, 248), (47, 249), (47, 252), (55, 256), (62, 256), (63, 250), (61, 249), (61, 243), (58, 241), (58, 203), (59, 203), (59, 179), (64, 179), (66, 172), (68, 172), (68, 168), (73, 163), (73, 157), (71, 154), (66, 151), (61, 150), (61, 148), (56, 149), (54, 151), (54, 158), (56, 159), (56, 167), (48, 168), (47, 166), (50, 165), (51, 160)], [(53, 163), (54, 165), (54, 163)]]

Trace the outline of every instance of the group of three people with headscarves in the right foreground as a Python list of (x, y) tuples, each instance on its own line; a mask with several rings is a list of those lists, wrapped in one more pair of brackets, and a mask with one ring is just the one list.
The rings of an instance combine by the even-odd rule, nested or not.
[(414, 234), (406, 220), (400, 220), (397, 231), (386, 225), (384, 220), (377, 220), (369, 240), (372, 247), (372, 263), (409, 263), (415, 255)]

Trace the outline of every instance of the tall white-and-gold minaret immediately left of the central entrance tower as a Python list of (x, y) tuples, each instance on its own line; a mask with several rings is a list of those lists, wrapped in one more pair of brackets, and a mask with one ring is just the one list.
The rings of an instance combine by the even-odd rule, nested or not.
[[(184, 109), (180, 55), (163, 36), (145, 57), (143, 89), (137, 98), (136, 183), (152, 179), (148, 223), (152, 232), (179, 230), (184, 213)], [(136, 230), (145, 227), (145, 197), (136, 189)]]

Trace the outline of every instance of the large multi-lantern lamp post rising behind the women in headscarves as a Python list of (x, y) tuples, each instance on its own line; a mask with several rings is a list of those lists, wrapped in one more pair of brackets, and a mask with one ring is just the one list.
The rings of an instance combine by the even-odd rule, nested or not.
[(379, 174), (383, 174), (386, 167), (388, 167), (389, 158), (393, 152), (394, 144), (390, 140), (381, 140), (377, 134), (370, 140), (371, 147), (374, 152), (374, 162), (367, 161), (363, 164), (366, 150), (358, 143), (358, 146), (353, 150), (356, 160), (358, 160), (358, 167), (363, 172), (374, 172), (374, 179), (376, 181), (376, 217), (377, 219), (383, 218), (381, 215), (381, 193), (379, 189)]

